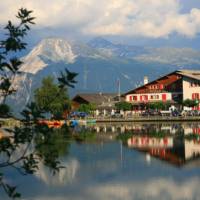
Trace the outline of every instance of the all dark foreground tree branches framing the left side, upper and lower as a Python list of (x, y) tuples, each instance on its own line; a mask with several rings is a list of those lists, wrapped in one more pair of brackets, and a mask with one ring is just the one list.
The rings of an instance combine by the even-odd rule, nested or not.
[[(13, 57), (12, 53), (20, 52), (26, 48), (23, 39), (30, 29), (29, 25), (34, 24), (34, 17), (31, 16), (31, 13), (32, 11), (27, 9), (20, 9), (17, 14), (17, 18), (20, 20), (19, 25), (15, 26), (9, 21), (5, 27), (8, 31), (7, 36), (0, 42), (0, 97), (2, 98), (0, 100), (3, 101), (3, 104), (1, 104), (3, 109), (7, 109), (4, 106), (6, 98), (15, 92), (12, 82), (22, 64), (20, 59)], [(61, 73), (56, 87), (59, 88), (58, 97), (63, 97), (67, 87), (74, 87), (76, 76), (76, 73), (68, 70)], [(54, 107), (58, 108), (57, 111), (60, 111), (56, 104), (57, 102), (55, 102)], [(58, 149), (53, 149), (53, 156), (50, 156), (52, 154), (46, 150), (42, 150), (51, 149), (51, 142), (48, 142), (48, 139), (55, 133), (54, 129), (38, 124), (38, 120), (44, 117), (43, 109), (32, 102), (26, 106), (21, 114), (23, 119), (20, 127), (7, 129), (9, 136), (0, 139), (0, 187), (13, 199), (19, 198), (20, 194), (16, 191), (16, 186), (12, 186), (7, 181), (3, 173), (4, 168), (12, 167), (20, 174), (26, 175), (35, 173), (38, 170), (39, 162), (49, 166), (53, 173), (61, 167), (58, 160)], [(66, 128), (64, 132), (68, 133), (67, 127), (64, 128)], [(38, 140), (38, 137), (41, 139)], [(53, 141), (53, 138), (51, 141)]]

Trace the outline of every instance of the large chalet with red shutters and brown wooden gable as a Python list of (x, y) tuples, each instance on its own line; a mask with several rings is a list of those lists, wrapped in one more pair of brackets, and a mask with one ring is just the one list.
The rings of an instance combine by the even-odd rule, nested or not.
[[(133, 105), (151, 102), (177, 103), (186, 99), (200, 99), (200, 70), (178, 70), (124, 94), (125, 101)], [(195, 107), (200, 109), (200, 106)]]

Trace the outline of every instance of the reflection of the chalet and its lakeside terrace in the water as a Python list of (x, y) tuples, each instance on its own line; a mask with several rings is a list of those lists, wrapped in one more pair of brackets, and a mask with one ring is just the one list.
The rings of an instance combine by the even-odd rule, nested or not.
[(127, 147), (146, 153), (148, 162), (155, 157), (180, 167), (200, 157), (200, 137), (187, 138), (200, 136), (199, 123), (96, 124), (90, 128), (104, 135), (104, 140), (133, 133), (126, 142)]

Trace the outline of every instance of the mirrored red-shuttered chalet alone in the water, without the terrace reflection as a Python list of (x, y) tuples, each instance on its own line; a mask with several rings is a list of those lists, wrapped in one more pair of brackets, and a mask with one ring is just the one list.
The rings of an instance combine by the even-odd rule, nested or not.
[(132, 137), (128, 139), (128, 147), (146, 152), (150, 156), (165, 160), (171, 164), (182, 166), (200, 157), (199, 141), (177, 138)]

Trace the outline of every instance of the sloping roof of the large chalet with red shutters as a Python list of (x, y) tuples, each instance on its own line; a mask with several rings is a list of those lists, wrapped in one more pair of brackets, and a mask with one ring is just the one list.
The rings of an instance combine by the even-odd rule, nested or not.
[[(200, 70), (176, 70), (176, 71), (173, 71), (173, 72), (171, 72), (171, 73), (169, 73), (169, 74), (166, 74), (166, 75), (164, 75), (164, 76), (162, 76), (162, 77), (159, 77), (158, 79), (155, 79), (155, 80), (149, 82), (149, 83), (146, 84), (146, 85), (150, 85), (150, 84), (152, 84), (152, 83), (154, 83), (154, 82), (156, 82), (156, 81), (158, 81), (158, 80), (164, 78), (165, 76), (169, 76), (169, 75), (171, 75), (171, 74), (179, 74), (179, 75), (181, 75), (181, 76), (185, 76), (185, 77), (188, 77), (188, 78), (200, 80)], [(145, 86), (146, 86), (146, 85), (145, 85)], [(133, 90), (130, 90), (130, 91), (126, 92), (125, 94), (123, 94), (123, 96), (124, 96), (124, 95), (127, 95), (127, 94), (131, 94), (131, 93), (133, 93), (135, 90), (138, 90), (138, 89), (142, 88), (143, 86), (144, 86), (144, 85), (139, 86), (139, 87), (137, 87), (137, 88), (135, 88), (135, 89), (133, 89)]]

